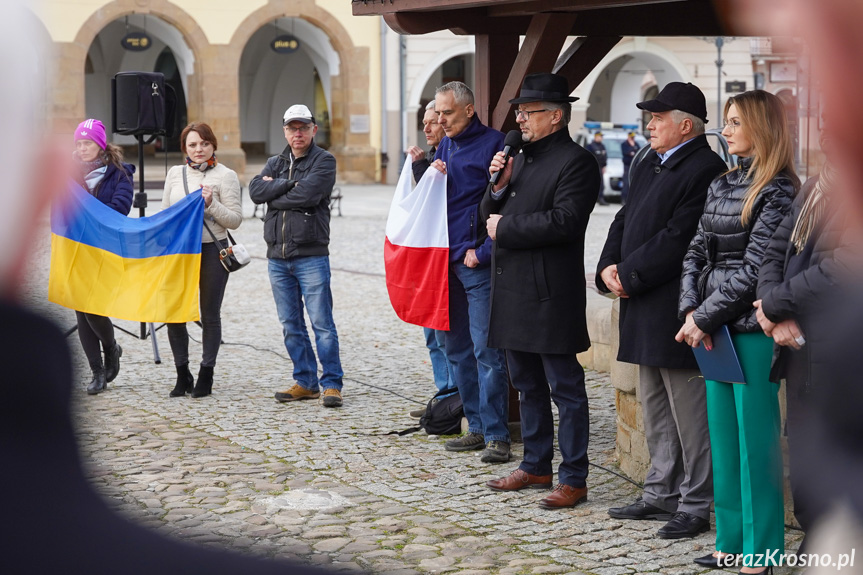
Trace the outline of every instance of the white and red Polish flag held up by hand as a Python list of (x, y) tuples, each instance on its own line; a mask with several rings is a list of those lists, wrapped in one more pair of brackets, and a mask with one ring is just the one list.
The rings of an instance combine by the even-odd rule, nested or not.
[(403, 321), (441, 330), (449, 330), (446, 216), (446, 175), (429, 168), (411, 189), (408, 156), (387, 218), (387, 291)]

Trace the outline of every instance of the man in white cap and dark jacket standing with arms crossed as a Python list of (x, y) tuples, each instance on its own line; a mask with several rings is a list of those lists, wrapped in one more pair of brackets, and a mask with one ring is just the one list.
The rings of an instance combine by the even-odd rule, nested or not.
[[(294, 364), (294, 385), (276, 393), (280, 402), (321, 397), (325, 407), (342, 405), (342, 364), (339, 337), (333, 322), (330, 291), (330, 194), (336, 183), (336, 159), (315, 145), (318, 126), (302, 104), (288, 108), (282, 122), (288, 146), (273, 156), (249, 184), (256, 204), (267, 204), (264, 240), (267, 242), (270, 285), (285, 348)], [(305, 305), (304, 305), (305, 304)], [(303, 307), (315, 332), (322, 375)]]

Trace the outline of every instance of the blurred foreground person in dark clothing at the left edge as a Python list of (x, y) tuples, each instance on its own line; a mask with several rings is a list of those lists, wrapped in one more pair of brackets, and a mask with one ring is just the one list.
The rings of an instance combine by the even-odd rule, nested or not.
[[(24, 79), (0, 90), (0, 120), (15, 138), (0, 138), (0, 492), (9, 494), (0, 527), (4, 573), (322, 573), (181, 543), (112, 512), (84, 475), (70, 417), (72, 361), (68, 340), (51, 322), (15, 302), (25, 249), (46, 233), (37, 217), (64, 189), (67, 150), (39, 141), (26, 80), (40, 60), (30, 46), (35, 21), (17, 1), (0, 9), (4, 78)], [(66, 142), (68, 145), (68, 142)], [(50, 166), (51, 169), (45, 169)]]

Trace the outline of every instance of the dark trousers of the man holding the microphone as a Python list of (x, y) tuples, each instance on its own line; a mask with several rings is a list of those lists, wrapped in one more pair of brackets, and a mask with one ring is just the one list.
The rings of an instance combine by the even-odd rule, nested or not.
[(506, 350), (506, 361), (521, 405), (524, 459), (519, 469), (532, 475), (552, 474), (554, 416), (551, 401), (554, 401), (560, 416), (557, 444), (563, 459), (557, 470), (557, 482), (586, 487), (590, 413), (584, 369), (575, 354)]

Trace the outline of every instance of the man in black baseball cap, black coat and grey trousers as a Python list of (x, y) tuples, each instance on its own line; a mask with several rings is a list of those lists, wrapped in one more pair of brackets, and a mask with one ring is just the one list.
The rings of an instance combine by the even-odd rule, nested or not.
[(643, 496), (608, 514), (668, 520), (657, 534), (680, 539), (709, 529), (713, 489), (704, 383), (692, 350), (674, 341), (681, 325), (675, 310), (707, 187), (726, 166), (704, 136), (707, 106), (696, 86), (672, 82), (637, 106), (651, 113), (652, 150), (632, 172), (596, 286), (621, 298), (617, 359), (639, 366), (651, 466)]

